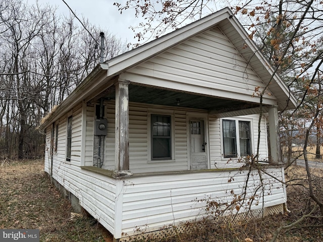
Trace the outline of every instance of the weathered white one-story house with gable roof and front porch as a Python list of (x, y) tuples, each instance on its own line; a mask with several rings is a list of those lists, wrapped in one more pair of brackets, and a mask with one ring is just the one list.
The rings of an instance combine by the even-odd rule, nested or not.
[[(254, 199), (239, 212), (279, 212), (278, 111), (295, 106), (226, 8), (97, 65), (42, 120), (45, 171), (115, 239), (198, 219), (203, 199), (243, 192)], [(256, 154), (263, 186), (243, 166)]]

